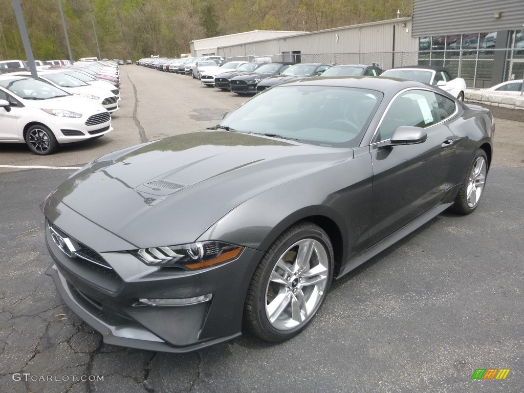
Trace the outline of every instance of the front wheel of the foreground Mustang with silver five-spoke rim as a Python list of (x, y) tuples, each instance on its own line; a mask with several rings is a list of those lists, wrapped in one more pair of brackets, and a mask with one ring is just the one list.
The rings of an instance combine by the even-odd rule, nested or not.
[(244, 305), (245, 327), (280, 342), (303, 330), (331, 285), (334, 253), (328, 235), (310, 222), (283, 232), (257, 266)]

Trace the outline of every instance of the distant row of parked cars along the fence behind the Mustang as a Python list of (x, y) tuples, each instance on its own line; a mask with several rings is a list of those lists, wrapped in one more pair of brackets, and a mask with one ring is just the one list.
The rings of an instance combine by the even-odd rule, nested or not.
[(446, 68), (431, 66), (398, 67), (384, 71), (375, 64), (296, 64), (288, 61), (271, 62), (269, 57), (255, 59), (253, 62), (225, 62), (221, 57), (212, 56), (185, 59), (146, 58), (140, 59), (136, 64), (159, 71), (192, 75), (205, 86), (228, 90), (239, 95), (253, 95), (279, 83), (320, 75), (322, 77), (384, 75), (414, 80), (436, 85), (460, 101), (464, 101), (466, 91), (464, 79), (452, 78)]

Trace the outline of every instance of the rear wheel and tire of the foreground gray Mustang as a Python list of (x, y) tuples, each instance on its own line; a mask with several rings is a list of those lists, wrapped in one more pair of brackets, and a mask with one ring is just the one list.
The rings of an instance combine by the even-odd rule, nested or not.
[(479, 149), (462, 181), (455, 203), (451, 206), (452, 211), (459, 214), (470, 214), (477, 208), (486, 183), (487, 162), (486, 153)]

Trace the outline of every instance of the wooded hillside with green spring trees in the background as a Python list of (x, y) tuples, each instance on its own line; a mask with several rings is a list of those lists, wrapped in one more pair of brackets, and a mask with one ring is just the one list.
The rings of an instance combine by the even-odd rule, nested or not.
[[(67, 59), (58, 0), (21, 0), (36, 59)], [(196, 39), (315, 31), (412, 14), (412, 0), (62, 0), (73, 58), (178, 56)], [(12, 0), (0, 0), (0, 60), (26, 59)]]

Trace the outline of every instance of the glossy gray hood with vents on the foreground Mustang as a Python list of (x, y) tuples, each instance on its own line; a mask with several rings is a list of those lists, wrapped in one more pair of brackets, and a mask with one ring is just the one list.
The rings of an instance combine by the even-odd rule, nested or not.
[(56, 219), (62, 201), (138, 248), (191, 243), (246, 200), (348, 157), (347, 149), (242, 133), (182, 134), (93, 161), (43, 211)]

